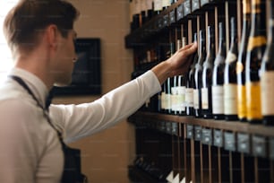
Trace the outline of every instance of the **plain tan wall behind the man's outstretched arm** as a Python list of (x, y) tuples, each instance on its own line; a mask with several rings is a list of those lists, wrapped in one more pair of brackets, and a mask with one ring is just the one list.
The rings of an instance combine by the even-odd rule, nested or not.
[[(129, 32), (128, 0), (70, 0), (81, 12), (75, 24), (80, 38), (101, 39), (102, 90), (106, 93), (130, 80), (132, 52), (124, 48)], [(55, 103), (81, 103), (99, 96), (59, 97)], [(83, 172), (94, 183), (127, 183), (133, 161), (133, 126), (125, 120), (97, 135), (74, 143), (81, 148)]]

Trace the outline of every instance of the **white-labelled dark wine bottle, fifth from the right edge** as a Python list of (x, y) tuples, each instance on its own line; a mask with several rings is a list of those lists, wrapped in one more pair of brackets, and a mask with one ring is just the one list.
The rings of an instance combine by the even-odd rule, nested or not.
[(212, 74), (212, 114), (214, 119), (224, 119), (224, 69), (227, 56), (225, 29), (218, 23), (218, 54), (214, 60)]

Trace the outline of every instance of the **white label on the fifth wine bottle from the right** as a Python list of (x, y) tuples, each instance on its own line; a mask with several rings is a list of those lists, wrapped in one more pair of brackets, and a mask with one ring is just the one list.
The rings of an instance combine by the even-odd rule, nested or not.
[(224, 114), (224, 87), (222, 85), (212, 86), (212, 113)]

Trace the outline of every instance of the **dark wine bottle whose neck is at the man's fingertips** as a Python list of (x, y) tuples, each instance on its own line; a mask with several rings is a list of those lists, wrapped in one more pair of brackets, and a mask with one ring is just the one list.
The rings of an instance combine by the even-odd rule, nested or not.
[[(194, 33), (193, 42), (197, 42), (197, 32)], [(194, 74), (195, 74), (195, 65), (198, 62), (198, 52), (194, 54), (193, 63), (190, 66), (188, 73), (186, 74), (186, 89), (185, 89), (185, 112), (187, 116), (194, 116), (193, 109), (193, 87), (195, 84)]]

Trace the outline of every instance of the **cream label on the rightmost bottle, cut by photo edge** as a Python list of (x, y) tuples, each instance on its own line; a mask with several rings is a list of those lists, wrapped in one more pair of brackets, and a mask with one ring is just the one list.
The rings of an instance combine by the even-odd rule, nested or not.
[(261, 74), (261, 114), (274, 115), (274, 71)]

